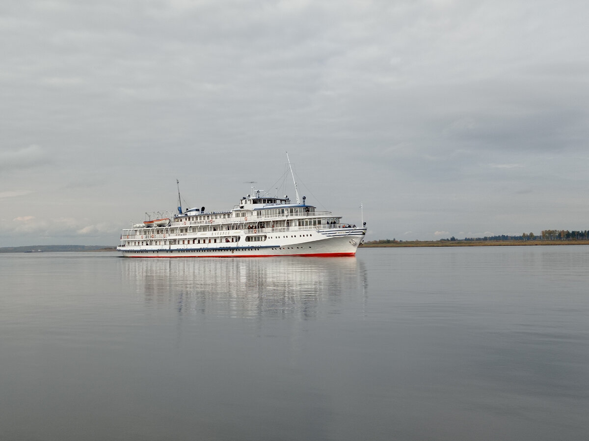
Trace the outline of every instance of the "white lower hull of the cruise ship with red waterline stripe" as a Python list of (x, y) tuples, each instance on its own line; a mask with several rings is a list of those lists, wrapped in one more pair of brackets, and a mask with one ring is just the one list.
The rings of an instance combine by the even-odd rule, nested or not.
[(356, 228), (347, 231), (313, 231), (315, 238), (310, 235), (297, 240), (278, 242), (266, 241), (260, 245), (250, 243), (206, 243), (186, 245), (145, 245), (136, 247), (119, 246), (118, 250), (124, 257), (272, 257), (272, 256), (354, 256), (356, 249), (362, 242), (366, 229)]

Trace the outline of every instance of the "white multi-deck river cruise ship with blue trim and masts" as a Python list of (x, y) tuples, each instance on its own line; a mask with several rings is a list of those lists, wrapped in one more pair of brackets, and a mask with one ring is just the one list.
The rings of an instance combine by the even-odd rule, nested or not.
[(305, 196), (300, 200), (296, 182), (294, 189), (296, 203), (260, 191), (243, 196), (227, 211), (183, 210), (179, 203), (171, 219), (156, 216), (123, 229), (117, 249), (125, 257), (355, 255), (366, 222), (342, 222), (341, 216), (307, 205)]

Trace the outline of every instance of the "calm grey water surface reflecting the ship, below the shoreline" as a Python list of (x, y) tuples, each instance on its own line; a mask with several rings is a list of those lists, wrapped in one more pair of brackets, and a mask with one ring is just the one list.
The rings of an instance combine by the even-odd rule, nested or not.
[(589, 439), (588, 265), (0, 255), (0, 438)]

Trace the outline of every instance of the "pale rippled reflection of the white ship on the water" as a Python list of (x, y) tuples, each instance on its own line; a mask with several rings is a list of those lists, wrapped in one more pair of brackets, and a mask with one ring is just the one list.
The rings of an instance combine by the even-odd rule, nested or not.
[(148, 305), (180, 314), (306, 319), (367, 295), (356, 258), (125, 259), (123, 267)]

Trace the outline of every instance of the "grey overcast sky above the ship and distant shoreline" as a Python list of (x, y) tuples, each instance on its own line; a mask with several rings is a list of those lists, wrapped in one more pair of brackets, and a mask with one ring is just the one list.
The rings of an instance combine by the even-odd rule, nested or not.
[[(8, 0), (0, 246), (272, 195), (367, 240), (589, 229), (586, 0)], [(294, 196), (291, 187), (279, 190)]]

